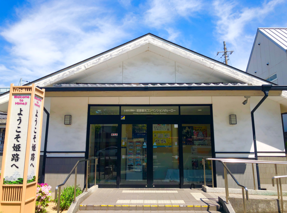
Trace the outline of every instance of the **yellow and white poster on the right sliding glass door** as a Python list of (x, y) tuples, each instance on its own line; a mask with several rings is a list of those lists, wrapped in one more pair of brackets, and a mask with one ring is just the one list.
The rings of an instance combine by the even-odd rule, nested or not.
[(171, 125), (170, 124), (153, 124), (152, 125), (152, 143), (154, 146), (171, 147)]

